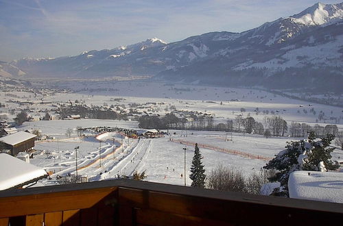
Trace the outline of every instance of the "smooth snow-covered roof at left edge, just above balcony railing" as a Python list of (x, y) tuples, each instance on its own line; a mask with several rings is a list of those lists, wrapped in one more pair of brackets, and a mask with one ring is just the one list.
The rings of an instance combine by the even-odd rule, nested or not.
[(44, 177), (47, 172), (12, 155), (0, 153), (0, 190), (13, 188), (34, 179)]

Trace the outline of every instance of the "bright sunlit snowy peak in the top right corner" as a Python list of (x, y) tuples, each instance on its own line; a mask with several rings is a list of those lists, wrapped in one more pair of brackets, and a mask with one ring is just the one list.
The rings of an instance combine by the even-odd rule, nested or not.
[(290, 16), (294, 22), (307, 26), (329, 25), (343, 19), (343, 3), (316, 3), (299, 14)]

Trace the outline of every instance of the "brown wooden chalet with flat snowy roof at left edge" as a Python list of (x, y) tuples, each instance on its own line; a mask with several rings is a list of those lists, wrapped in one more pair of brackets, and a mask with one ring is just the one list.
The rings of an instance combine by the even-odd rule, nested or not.
[(5, 149), (9, 149), (12, 155), (17, 155), (21, 151), (30, 151), (34, 147), (36, 135), (19, 131), (15, 134), (10, 134), (0, 138), (4, 143)]

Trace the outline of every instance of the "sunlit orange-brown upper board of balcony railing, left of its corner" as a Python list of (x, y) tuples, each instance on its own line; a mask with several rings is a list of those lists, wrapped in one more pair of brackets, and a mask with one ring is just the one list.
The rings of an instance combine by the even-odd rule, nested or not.
[(0, 218), (91, 208), (91, 206), (105, 199), (116, 189), (115, 187), (97, 188), (20, 197), (3, 197), (0, 201)]

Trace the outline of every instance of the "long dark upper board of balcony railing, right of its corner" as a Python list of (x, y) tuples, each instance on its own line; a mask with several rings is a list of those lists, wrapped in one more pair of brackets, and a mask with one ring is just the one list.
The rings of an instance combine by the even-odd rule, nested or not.
[[(119, 203), (131, 208), (141, 208), (195, 216), (231, 224), (274, 225), (282, 219), (280, 225), (304, 225), (318, 223), (325, 225), (325, 219), (339, 222), (343, 214), (288, 208), (283, 206), (192, 197), (189, 195), (150, 192), (148, 190), (119, 188)], [(247, 217), (249, 216), (249, 217)]]

